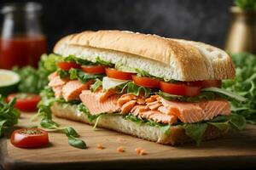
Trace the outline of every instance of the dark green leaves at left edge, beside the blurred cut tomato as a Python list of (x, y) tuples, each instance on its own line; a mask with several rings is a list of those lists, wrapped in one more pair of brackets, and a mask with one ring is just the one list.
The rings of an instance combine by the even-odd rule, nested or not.
[(20, 111), (15, 109), (16, 99), (12, 99), (6, 103), (3, 96), (0, 94), (0, 137), (6, 131), (18, 123)]

